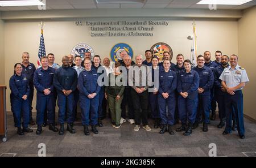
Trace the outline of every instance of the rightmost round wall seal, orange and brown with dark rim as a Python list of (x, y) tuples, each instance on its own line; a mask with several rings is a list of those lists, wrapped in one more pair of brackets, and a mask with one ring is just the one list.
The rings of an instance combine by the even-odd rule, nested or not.
[(152, 51), (153, 56), (157, 56), (159, 58), (159, 61), (163, 60), (164, 51), (168, 51), (171, 54), (171, 57), (173, 55), (172, 48), (164, 42), (154, 44), (150, 50)]

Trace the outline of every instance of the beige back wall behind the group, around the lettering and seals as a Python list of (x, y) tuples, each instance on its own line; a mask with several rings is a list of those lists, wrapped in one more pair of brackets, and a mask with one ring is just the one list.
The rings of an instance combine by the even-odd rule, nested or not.
[[(125, 19), (109, 18), (98, 20)], [(185, 58), (189, 58), (191, 41), (187, 40), (187, 36), (192, 35), (193, 21), (188, 19), (169, 19), (168, 21), (171, 23), (168, 27), (155, 27), (154, 37), (90, 37), (89, 27), (77, 27), (73, 21), (45, 21), (44, 41), (46, 51), (47, 53), (54, 53), (56, 62), (60, 64), (61, 57), (71, 53), (72, 48), (80, 42), (85, 42), (92, 46), (95, 54), (101, 55), (101, 57), (109, 57), (110, 50), (119, 42), (129, 44), (133, 48), (134, 54), (144, 54), (144, 51), (150, 49), (156, 42), (166, 42), (174, 51), (174, 57), (182, 53)], [(40, 40), (38, 23), (39, 21), (5, 23), (6, 85), (9, 85), (8, 81), (13, 74), (13, 65), (21, 61), (23, 51), (28, 51), (31, 55), (30, 61), (36, 63)], [(221, 50), (228, 55), (238, 54), (237, 27), (236, 20), (196, 20), (198, 54), (203, 54), (205, 50), (212, 51), (213, 55), (216, 50)], [(212, 59), (214, 59), (214, 56)], [(7, 95), (9, 93), (8, 89)], [(7, 110), (10, 110), (9, 101), (7, 101)]]

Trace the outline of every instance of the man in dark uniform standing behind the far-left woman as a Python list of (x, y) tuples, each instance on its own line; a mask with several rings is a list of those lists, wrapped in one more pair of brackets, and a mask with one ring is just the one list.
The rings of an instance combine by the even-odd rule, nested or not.
[(33, 63), (29, 62), (30, 54), (28, 52), (22, 53), (22, 74), (27, 76), (28, 84), (30, 85), (30, 93), (28, 94), (28, 104), (30, 105), (30, 124), (34, 125), (35, 122), (32, 119), (32, 101), (34, 97), (34, 72), (36, 67)]

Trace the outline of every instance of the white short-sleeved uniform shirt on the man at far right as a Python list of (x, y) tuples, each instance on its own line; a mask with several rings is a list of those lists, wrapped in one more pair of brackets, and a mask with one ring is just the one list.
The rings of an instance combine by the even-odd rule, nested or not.
[[(220, 76), (220, 80), (225, 81), (229, 88), (236, 87), (240, 83), (249, 81), (245, 69), (238, 65), (234, 70), (232, 70), (231, 67), (225, 68)], [(241, 89), (243, 88), (237, 89), (237, 91)]]

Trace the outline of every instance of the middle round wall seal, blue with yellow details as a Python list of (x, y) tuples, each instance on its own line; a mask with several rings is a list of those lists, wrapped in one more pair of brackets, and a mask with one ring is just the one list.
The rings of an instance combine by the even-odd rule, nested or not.
[(133, 49), (131, 49), (131, 46), (125, 43), (118, 43), (113, 46), (113, 48), (110, 51), (110, 57), (112, 61), (116, 62), (118, 60), (121, 60), (120, 53), (121, 51), (126, 50), (128, 55), (131, 56), (131, 59), (133, 59)]

